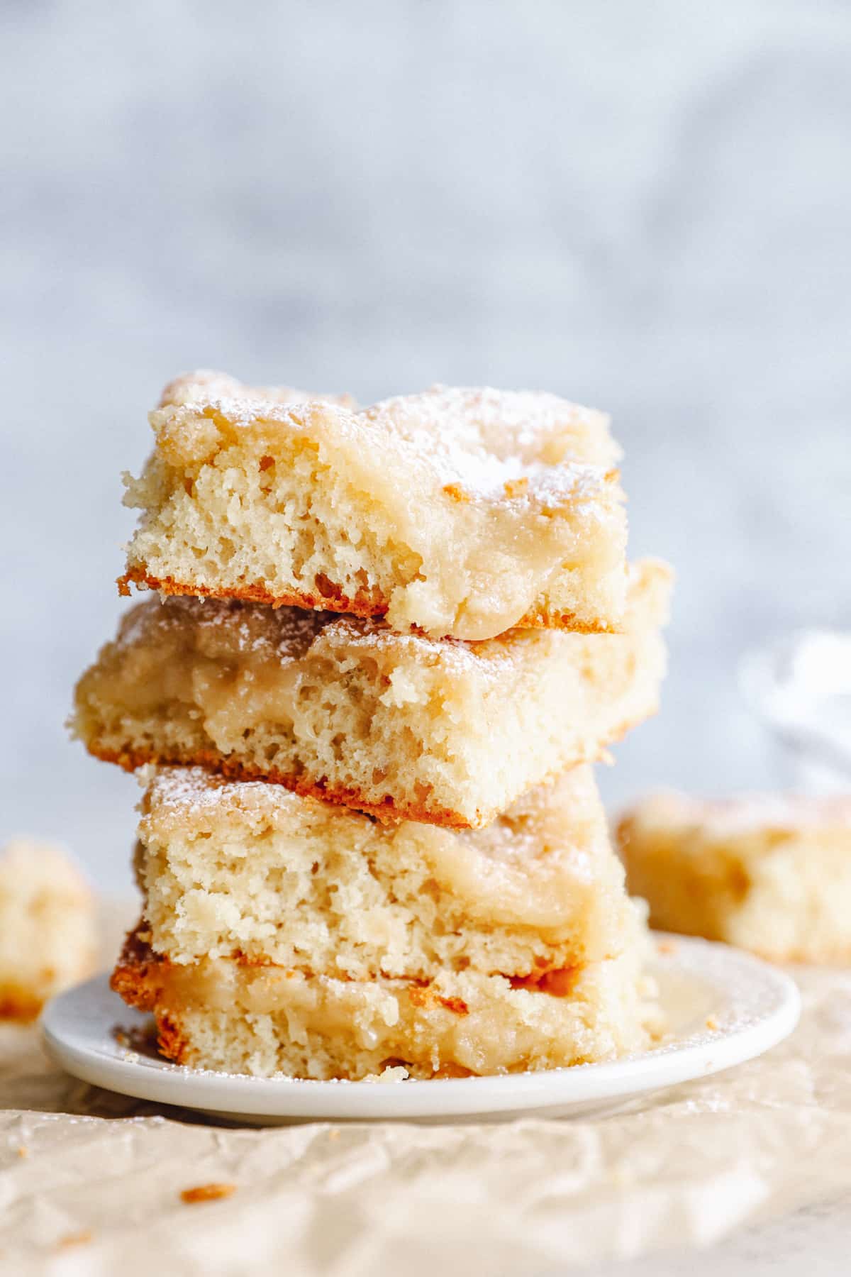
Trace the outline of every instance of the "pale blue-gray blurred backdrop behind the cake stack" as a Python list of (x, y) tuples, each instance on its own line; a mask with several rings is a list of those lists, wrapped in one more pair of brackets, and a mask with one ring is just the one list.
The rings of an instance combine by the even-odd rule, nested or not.
[(120, 471), (207, 365), (610, 410), (677, 570), (649, 785), (769, 785), (754, 644), (848, 619), (851, 6), (1, 6), (4, 834), (129, 881), (131, 778), (66, 739), (111, 636)]

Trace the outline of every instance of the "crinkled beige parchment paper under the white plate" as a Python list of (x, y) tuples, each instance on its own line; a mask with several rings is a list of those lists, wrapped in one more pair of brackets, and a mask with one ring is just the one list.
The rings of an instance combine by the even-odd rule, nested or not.
[[(851, 972), (795, 972), (760, 1060), (574, 1121), (228, 1128), (0, 1028), (0, 1272), (558, 1273), (708, 1245), (851, 1189)], [(181, 1190), (235, 1185), (184, 1204)]]

